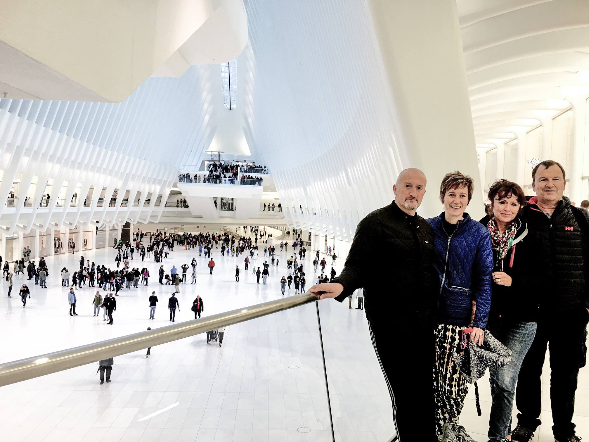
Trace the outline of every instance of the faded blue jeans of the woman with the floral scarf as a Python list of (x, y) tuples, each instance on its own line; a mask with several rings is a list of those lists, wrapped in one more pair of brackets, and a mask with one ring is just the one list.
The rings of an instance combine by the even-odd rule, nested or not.
[(511, 412), (515, 383), (524, 357), (536, 335), (536, 322), (504, 322), (490, 328), (491, 334), (511, 351), (511, 363), (504, 368), (489, 368), (491, 382), (491, 417), (489, 442), (501, 442), (511, 434)]

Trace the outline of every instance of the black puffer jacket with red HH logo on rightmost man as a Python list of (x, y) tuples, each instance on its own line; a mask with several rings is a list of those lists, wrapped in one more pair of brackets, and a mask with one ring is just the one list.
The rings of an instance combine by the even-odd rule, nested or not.
[(589, 308), (586, 212), (571, 206), (570, 200), (563, 197), (549, 218), (536, 203), (532, 198), (530, 205), (522, 209), (521, 217), (528, 225), (530, 241), (539, 250), (533, 259), (536, 275), (541, 279), (541, 312)]

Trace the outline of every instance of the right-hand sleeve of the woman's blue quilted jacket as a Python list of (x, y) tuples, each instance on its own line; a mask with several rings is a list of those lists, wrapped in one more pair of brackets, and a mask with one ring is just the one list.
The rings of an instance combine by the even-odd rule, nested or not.
[[(483, 227), (484, 229), (484, 227)], [(483, 230), (481, 229), (481, 230)], [(473, 266), (474, 298), (477, 301), (474, 327), (485, 328), (491, 308), (491, 282), (493, 273), (493, 249), (491, 235), (483, 230), (477, 246), (475, 263)]]

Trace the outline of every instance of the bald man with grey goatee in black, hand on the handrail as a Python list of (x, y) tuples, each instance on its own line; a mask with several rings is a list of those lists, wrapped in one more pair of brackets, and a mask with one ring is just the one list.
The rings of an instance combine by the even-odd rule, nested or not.
[[(431, 381), (434, 350), (434, 230), (416, 210), (425, 193), (421, 170), (403, 170), (395, 200), (358, 223), (345, 267), (330, 283), (309, 289), (342, 302), (364, 288), (370, 338), (385, 375), (400, 442), (438, 441)], [(411, 365), (401, 361), (407, 358)], [(419, 415), (422, 425), (415, 427)]]

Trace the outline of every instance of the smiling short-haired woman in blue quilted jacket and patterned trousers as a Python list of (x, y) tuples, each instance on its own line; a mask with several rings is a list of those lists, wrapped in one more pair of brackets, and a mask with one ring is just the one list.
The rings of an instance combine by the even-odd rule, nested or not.
[(474, 181), (459, 171), (444, 176), (441, 215), (428, 219), (435, 233), (434, 265), (439, 276), (438, 325), (435, 328), (434, 398), (436, 431), (445, 427), (466, 435), (458, 425), (468, 385), (452, 360), (464, 354), (466, 339), (482, 345), (491, 306), (493, 250), (489, 231), (466, 206)]

